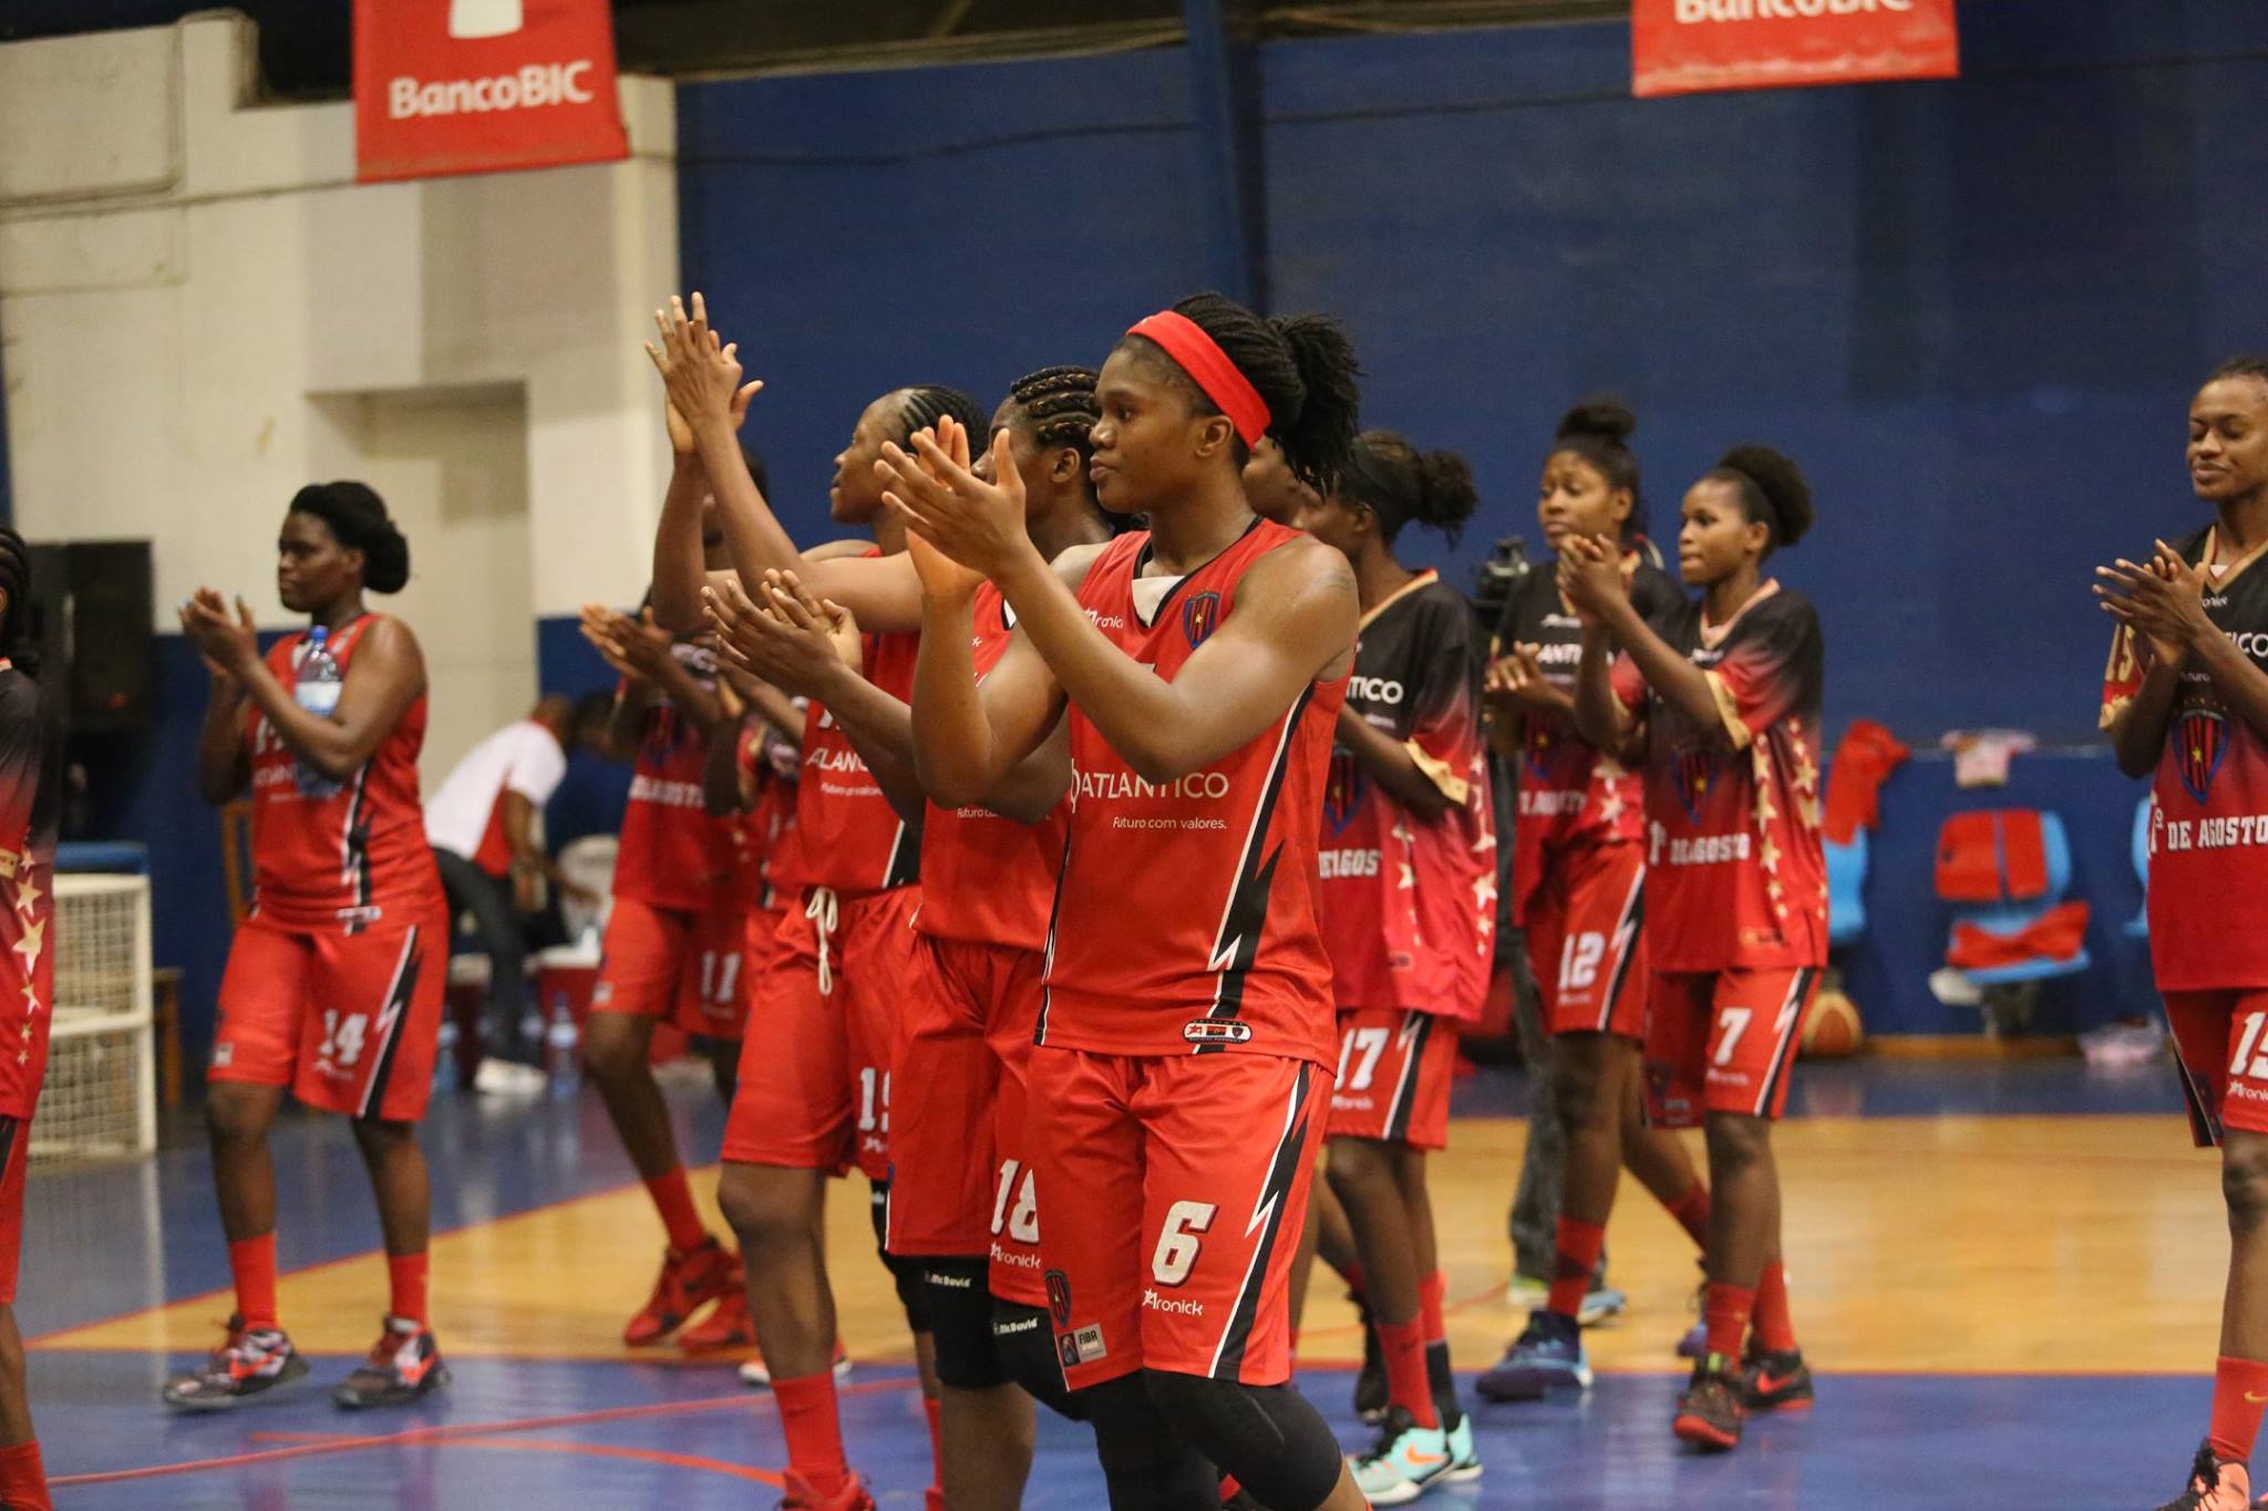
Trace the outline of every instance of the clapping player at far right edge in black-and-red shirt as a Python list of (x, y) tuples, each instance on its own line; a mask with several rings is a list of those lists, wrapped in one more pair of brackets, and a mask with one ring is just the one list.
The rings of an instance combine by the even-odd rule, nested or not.
[(2268, 360), (2198, 390), (2189, 483), (2214, 505), (2207, 530), (2098, 571), (2118, 621), (2102, 727), (2121, 770), (2155, 777), (2150, 963), (2229, 1207), (2214, 1414), (2161, 1511), (2243, 1511), (2268, 1402)]

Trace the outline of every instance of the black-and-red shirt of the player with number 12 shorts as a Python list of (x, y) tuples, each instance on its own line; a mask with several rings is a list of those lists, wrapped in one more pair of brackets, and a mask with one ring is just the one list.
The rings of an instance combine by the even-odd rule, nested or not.
[[(1681, 594), (1658, 566), (1631, 557), (1631, 603), (1649, 621)], [(1522, 580), (1510, 634), (1535, 646), (1551, 686), (1574, 693), (1583, 623), (1558, 594), (1558, 578), (1535, 569)], [(1635, 845), (1647, 836), (1647, 793), (1635, 763), (1583, 743), (1572, 718), (1526, 714), (1520, 732), (1520, 791), (1513, 818), (1513, 920), (1526, 924), (1551, 852), (1581, 845)]]

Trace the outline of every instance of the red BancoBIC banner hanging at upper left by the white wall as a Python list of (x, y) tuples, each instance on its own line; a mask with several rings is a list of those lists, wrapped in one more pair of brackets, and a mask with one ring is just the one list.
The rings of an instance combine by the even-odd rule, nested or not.
[(354, 0), (356, 177), (631, 156), (606, 0)]

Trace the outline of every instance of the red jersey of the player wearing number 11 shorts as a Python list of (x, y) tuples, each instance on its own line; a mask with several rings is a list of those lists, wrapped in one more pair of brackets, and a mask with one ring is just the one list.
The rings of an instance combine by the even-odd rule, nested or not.
[[(678, 641), (669, 655), (717, 686), (717, 655)], [(733, 886), (737, 820), (712, 818), (701, 788), (708, 736), (667, 698), (646, 709), (631, 802), (621, 811), (615, 895), (653, 908), (705, 913)]]

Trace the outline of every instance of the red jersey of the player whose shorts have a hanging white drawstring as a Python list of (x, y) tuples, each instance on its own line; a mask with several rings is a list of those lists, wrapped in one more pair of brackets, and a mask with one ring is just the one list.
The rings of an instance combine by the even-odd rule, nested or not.
[[(921, 634), (914, 632), (869, 634), (860, 641), (860, 664), (878, 689), (912, 702), (919, 650)], [(816, 700), (803, 711), (796, 831), (771, 870), (776, 886), (823, 886), (839, 897), (864, 897), (921, 877), (921, 829), (898, 818), (866, 761)]]

